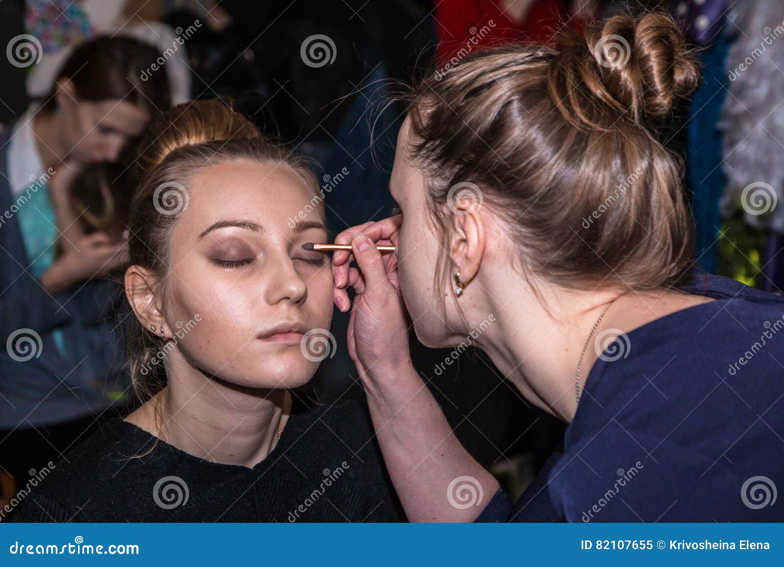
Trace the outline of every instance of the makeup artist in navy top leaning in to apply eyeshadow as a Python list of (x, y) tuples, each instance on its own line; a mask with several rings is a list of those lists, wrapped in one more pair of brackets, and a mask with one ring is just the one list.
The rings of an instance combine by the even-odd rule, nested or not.
[[(390, 182), (402, 214), (336, 238), (353, 246), (333, 257), (336, 305), (406, 514), (781, 522), (784, 300), (695, 271), (683, 165), (659, 140), (695, 58), (659, 13), (554, 45), (475, 53), (419, 85)], [(411, 326), (430, 347), (470, 335), (568, 422), (517, 503), (412, 367)]]

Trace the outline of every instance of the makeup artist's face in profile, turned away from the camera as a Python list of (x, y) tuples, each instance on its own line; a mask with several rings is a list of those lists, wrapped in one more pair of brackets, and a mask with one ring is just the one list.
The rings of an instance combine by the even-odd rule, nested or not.
[(408, 158), (408, 136), (406, 119), (397, 136), (390, 178), (392, 197), (403, 213), (395, 251), (397, 272), (417, 338), (428, 347), (441, 347), (445, 346), (448, 328), (440, 296), (447, 288), (434, 279), (436, 262), (445, 250), (430, 221), (422, 172)]

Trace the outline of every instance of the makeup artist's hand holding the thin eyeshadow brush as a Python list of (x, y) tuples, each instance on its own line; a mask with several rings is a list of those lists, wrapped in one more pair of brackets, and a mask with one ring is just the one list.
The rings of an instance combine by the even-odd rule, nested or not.
[[(390, 216), (351, 227), (335, 238), (336, 244), (353, 247), (351, 252), (333, 253), (332, 272), (334, 299), (340, 311), (351, 307), (347, 286), (356, 292), (349, 318), (348, 348), (362, 376), (368, 370), (382, 369), (386, 375), (396, 365), (410, 364), (409, 325), (397, 281), (397, 256), (376, 249), (376, 245), (397, 245), (400, 223), (400, 215)], [(357, 260), (358, 268), (350, 267), (352, 260)]]

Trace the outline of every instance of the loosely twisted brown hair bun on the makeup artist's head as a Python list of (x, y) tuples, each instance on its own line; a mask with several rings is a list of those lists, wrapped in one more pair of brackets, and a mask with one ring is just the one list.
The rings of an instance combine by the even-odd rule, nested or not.
[[(667, 118), (699, 87), (699, 64), (667, 13), (614, 16), (586, 27), (583, 38), (564, 33), (560, 43), (554, 75), (567, 78), (563, 86), (583, 85), (588, 96), (636, 122)], [(596, 123), (589, 118), (593, 101), (567, 98), (578, 118)]]

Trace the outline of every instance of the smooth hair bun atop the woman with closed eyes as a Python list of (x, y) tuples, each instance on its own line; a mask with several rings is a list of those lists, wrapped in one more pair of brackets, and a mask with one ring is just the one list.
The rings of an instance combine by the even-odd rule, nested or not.
[(263, 138), (256, 125), (220, 99), (194, 100), (169, 108), (147, 128), (139, 165), (147, 175), (180, 147), (214, 141)]

